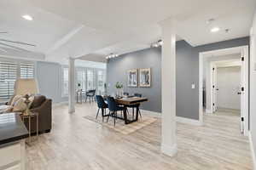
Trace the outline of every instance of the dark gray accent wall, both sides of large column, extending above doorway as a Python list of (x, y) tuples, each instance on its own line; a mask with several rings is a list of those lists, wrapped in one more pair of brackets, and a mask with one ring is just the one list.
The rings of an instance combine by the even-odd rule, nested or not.
[[(230, 41), (216, 42), (198, 47), (189, 43), (177, 42), (177, 116), (199, 119), (199, 53), (220, 48), (232, 48), (248, 45), (249, 38), (237, 38)], [(114, 94), (115, 82), (123, 82), (124, 91), (141, 93), (149, 101), (143, 104), (143, 109), (148, 111), (161, 111), (161, 85), (160, 85), (160, 48), (148, 48), (141, 51), (125, 54), (115, 59), (110, 59), (107, 65), (108, 94)], [(126, 71), (134, 68), (152, 68), (151, 88), (127, 88)], [(195, 83), (195, 89), (191, 84)]]

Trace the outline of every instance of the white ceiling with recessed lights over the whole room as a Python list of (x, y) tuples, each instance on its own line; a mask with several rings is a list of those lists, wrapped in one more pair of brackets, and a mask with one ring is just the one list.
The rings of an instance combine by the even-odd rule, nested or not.
[[(35, 43), (36, 48), (27, 49), (62, 61), (81, 56), (101, 60), (110, 53), (148, 48), (161, 36), (158, 23), (168, 17), (178, 21), (177, 39), (193, 46), (246, 37), (256, 1), (1, 0), (0, 7), (0, 31), (9, 31), (0, 38)], [(34, 20), (23, 20), (22, 14)], [(209, 25), (211, 18), (216, 21)], [(211, 33), (212, 26), (221, 31)]]

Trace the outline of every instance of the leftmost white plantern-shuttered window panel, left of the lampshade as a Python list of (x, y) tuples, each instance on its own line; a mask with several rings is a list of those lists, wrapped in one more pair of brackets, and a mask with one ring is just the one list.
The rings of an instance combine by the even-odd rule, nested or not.
[(14, 95), (16, 75), (16, 63), (0, 62), (0, 103), (7, 101)]

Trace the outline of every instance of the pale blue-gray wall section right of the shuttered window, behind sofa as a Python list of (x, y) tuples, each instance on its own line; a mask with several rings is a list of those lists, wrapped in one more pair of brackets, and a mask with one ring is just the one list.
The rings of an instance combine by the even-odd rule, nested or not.
[(61, 65), (38, 61), (36, 74), (40, 94), (52, 99), (54, 103), (68, 100), (67, 97), (61, 97)]

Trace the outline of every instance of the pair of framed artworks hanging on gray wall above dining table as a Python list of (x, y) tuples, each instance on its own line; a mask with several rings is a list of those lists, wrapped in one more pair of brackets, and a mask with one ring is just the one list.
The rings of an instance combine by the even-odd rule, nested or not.
[[(138, 82), (139, 72), (139, 82)], [(137, 86), (142, 88), (149, 88), (151, 86), (151, 69), (132, 69), (127, 72), (128, 87), (135, 88)]]

